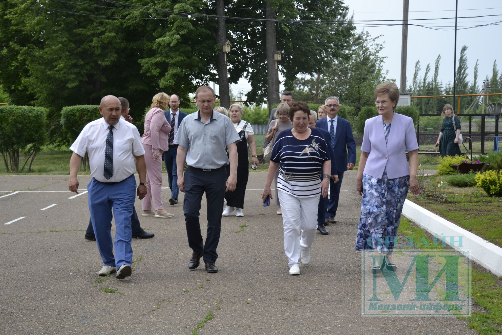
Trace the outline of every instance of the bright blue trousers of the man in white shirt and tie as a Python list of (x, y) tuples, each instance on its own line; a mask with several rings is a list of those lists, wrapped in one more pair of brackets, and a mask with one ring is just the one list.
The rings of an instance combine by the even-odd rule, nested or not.
[[(107, 184), (92, 178), (87, 184), (89, 212), (92, 228), (96, 236), (97, 249), (103, 265), (132, 265), (133, 248), (131, 247), (133, 216), (136, 196), (134, 175), (119, 183)], [(111, 209), (115, 216), (115, 241), (111, 241)], [(115, 249), (115, 256), (113, 256)]]

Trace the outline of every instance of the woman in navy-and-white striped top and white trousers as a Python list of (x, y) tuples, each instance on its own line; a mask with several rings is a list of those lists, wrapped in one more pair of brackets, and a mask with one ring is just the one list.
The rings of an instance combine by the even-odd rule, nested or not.
[[(279, 134), (272, 149), (267, 182), (262, 198), (272, 199), (270, 185), (279, 169), (277, 183), (281, 200), (284, 251), (289, 259), (290, 275), (300, 274), (300, 263), (310, 263), (310, 248), (317, 231), (319, 194), (328, 194), (331, 160), (324, 138), (309, 128), (310, 109), (298, 101), (289, 110), (293, 129)], [(321, 181), (321, 175), (323, 179)]]

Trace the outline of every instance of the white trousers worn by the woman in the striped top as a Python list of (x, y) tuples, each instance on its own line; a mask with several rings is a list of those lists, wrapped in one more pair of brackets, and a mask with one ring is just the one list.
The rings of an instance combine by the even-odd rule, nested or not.
[(297, 198), (281, 190), (278, 192), (283, 217), (284, 252), (291, 268), (300, 264), (300, 251), (310, 249), (314, 243), (319, 196)]

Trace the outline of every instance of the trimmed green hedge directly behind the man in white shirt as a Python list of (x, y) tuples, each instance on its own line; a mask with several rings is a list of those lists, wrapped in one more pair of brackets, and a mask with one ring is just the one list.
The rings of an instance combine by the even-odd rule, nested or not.
[(61, 127), (68, 134), (69, 143), (73, 143), (85, 125), (99, 118), (99, 106), (66, 106), (61, 110)]

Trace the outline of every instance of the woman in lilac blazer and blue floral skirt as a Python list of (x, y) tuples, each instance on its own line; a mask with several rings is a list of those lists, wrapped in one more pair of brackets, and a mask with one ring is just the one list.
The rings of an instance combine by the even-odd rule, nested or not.
[[(375, 88), (379, 116), (366, 120), (357, 171), (362, 194), (355, 250), (374, 250), (373, 273), (396, 271), (391, 253), (408, 190), (418, 194), (418, 143), (413, 120), (394, 112), (399, 99), (395, 83)], [(391, 129), (392, 126), (392, 129)], [(406, 160), (406, 150), (410, 165)]]

